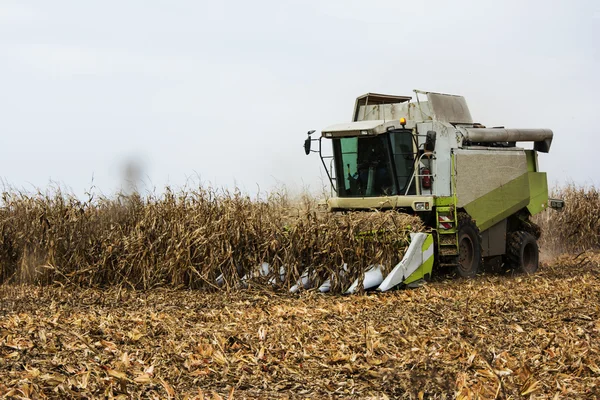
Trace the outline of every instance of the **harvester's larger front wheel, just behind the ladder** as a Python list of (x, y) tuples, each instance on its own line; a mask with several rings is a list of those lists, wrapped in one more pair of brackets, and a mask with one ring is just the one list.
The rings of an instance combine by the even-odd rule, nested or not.
[(467, 213), (458, 214), (458, 262), (456, 272), (463, 278), (473, 278), (481, 267), (481, 236), (479, 228)]

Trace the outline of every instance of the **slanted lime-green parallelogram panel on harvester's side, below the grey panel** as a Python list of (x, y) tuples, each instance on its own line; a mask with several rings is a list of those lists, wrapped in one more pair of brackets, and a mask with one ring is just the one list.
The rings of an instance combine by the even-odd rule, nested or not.
[(529, 204), (529, 174), (525, 173), (465, 205), (465, 210), (482, 232)]

